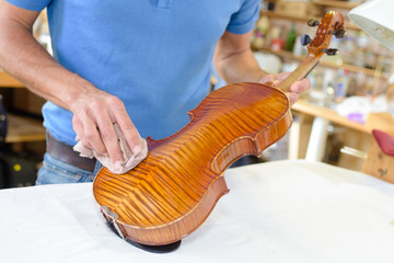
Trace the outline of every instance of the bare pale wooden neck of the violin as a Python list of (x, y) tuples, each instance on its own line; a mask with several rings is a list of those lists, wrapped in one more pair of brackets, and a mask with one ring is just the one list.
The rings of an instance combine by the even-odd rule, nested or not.
[(277, 87), (283, 92), (290, 91), (290, 85), (296, 81), (304, 79), (309, 72), (318, 64), (318, 58), (313, 55), (309, 55), (305, 60), (303, 60), (298, 68), (289, 75), (285, 80), (282, 80)]

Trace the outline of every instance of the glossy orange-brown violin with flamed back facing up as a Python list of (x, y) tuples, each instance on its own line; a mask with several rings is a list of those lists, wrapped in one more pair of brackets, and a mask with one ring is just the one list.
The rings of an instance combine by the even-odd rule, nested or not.
[(125, 240), (143, 245), (177, 242), (207, 219), (229, 192), (224, 171), (241, 157), (260, 153), (286, 135), (292, 123), (285, 94), (315, 67), (332, 36), (344, 35), (344, 18), (331, 11), (308, 56), (278, 87), (235, 83), (211, 92), (193, 111), (190, 122), (174, 135), (148, 141), (148, 156), (125, 174), (103, 168), (93, 194), (108, 225)]

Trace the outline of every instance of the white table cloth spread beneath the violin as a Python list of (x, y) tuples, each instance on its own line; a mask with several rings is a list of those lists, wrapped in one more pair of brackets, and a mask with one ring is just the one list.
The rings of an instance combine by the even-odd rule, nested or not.
[(394, 185), (321, 162), (229, 169), (230, 193), (179, 249), (154, 254), (106, 225), (92, 184), (0, 191), (0, 262), (394, 262)]

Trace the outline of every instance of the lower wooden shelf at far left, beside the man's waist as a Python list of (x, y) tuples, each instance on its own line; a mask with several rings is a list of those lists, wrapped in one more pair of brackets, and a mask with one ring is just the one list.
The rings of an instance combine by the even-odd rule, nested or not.
[(46, 139), (43, 121), (14, 114), (8, 114), (5, 142), (24, 142)]

